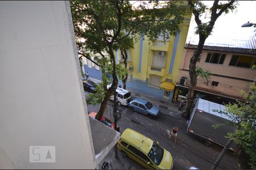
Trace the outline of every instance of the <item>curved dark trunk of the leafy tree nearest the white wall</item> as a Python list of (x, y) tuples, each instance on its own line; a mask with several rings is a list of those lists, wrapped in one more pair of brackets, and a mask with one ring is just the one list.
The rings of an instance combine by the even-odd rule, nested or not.
[(118, 84), (118, 79), (117, 79), (117, 74), (115, 71), (115, 56), (114, 56), (114, 52), (112, 49), (112, 45), (109, 45), (109, 54), (110, 54), (110, 58), (112, 59), (112, 64), (113, 64), (113, 81), (112, 81), (112, 85), (110, 86), (110, 88), (108, 89), (108, 91), (105, 94), (105, 97), (101, 103), (101, 107), (100, 110), (98, 111), (98, 113), (96, 114), (96, 119), (98, 121), (101, 120), (102, 116), (104, 115), (105, 109), (106, 109), (106, 104), (108, 103), (109, 97), (111, 96), (111, 94), (113, 94), (114, 90), (117, 88), (117, 84)]

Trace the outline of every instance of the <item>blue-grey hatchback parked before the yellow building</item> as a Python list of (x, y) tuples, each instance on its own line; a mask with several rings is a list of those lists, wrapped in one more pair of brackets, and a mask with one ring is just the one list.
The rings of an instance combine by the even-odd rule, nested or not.
[(159, 115), (160, 110), (155, 105), (152, 105), (149, 101), (144, 99), (136, 98), (133, 101), (130, 101), (129, 107), (133, 111), (141, 112), (142, 114), (147, 115), (149, 118), (154, 118)]

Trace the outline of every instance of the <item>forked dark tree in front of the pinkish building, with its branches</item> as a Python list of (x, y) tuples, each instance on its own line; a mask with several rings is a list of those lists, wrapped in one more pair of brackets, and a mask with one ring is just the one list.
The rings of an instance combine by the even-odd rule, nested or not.
[(187, 104), (185, 105), (185, 108), (181, 114), (186, 119), (190, 117), (190, 109), (193, 103), (194, 91), (197, 83), (196, 61), (203, 50), (204, 42), (212, 32), (214, 23), (218, 17), (220, 17), (222, 13), (227, 14), (229, 11), (233, 11), (237, 6), (237, 1), (228, 1), (227, 3), (219, 3), (219, 1), (214, 1), (212, 7), (209, 8), (211, 16), (210, 21), (207, 23), (202, 23), (200, 20), (200, 15), (208, 10), (207, 6), (205, 6), (203, 2), (189, 0), (188, 5), (191, 6), (191, 10), (195, 16), (195, 22), (197, 24), (196, 34), (199, 35), (199, 44), (197, 45), (197, 48), (189, 62), (190, 85), (187, 94)]

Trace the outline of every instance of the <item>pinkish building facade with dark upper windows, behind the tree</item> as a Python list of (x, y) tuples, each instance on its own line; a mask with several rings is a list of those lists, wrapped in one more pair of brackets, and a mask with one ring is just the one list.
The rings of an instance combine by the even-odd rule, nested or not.
[[(239, 44), (239, 40), (235, 41)], [(254, 43), (254, 41), (251, 42)], [(196, 45), (193, 44), (185, 45), (178, 82), (182, 86), (189, 86), (188, 67), (195, 48)], [(242, 99), (240, 90), (248, 91), (249, 84), (255, 82), (256, 79), (256, 69), (253, 69), (256, 65), (255, 56), (256, 49), (206, 44), (197, 61), (197, 66), (209, 70), (212, 75), (208, 80), (197, 76), (197, 89), (234, 99)]]

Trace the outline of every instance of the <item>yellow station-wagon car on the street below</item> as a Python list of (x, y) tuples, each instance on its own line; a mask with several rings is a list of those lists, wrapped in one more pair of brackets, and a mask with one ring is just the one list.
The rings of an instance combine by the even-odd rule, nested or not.
[(118, 148), (123, 156), (129, 156), (147, 169), (172, 169), (174, 164), (170, 152), (152, 139), (129, 128), (123, 131)]

